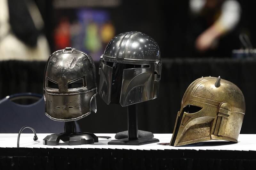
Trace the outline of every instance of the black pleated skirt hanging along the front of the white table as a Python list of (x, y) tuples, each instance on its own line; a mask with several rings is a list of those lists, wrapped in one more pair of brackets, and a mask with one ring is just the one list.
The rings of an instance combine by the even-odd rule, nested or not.
[(255, 151), (0, 148), (0, 169), (255, 169)]

